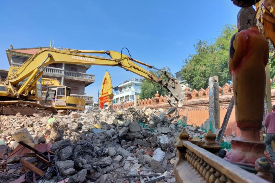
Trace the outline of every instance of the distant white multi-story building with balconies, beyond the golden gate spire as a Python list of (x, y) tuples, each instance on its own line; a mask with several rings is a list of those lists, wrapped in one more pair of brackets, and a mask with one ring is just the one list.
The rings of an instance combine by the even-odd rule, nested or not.
[(115, 103), (126, 102), (134, 100), (134, 95), (139, 95), (141, 93), (141, 82), (137, 78), (127, 79), (118, 86), (114, 87), (114, 97)]

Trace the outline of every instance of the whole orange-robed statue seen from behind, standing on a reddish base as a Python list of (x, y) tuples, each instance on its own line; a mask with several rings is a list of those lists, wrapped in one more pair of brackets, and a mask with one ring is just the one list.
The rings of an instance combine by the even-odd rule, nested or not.
[(255, 167), (255, 161), (265, 156), (260, 128), (269, 49), (267, 40), (256, 26), (255, 10), (242, 8), (238, 15), (239, 32), (231, 38), (228, 63), (233, 80), (236, 122), (241, 135), (231, 140), (232, 149), (225, 160)]

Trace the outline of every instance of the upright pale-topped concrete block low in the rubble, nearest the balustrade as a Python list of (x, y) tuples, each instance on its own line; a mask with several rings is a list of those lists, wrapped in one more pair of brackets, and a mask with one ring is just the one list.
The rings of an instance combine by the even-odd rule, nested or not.
[(167, 165), (167, 160), (165, 157), (165, 152), (161, 148), (157, 148), (153, 153), (153, 158), (151, 162), (151, 169), (156, 173), (165, 172)]

